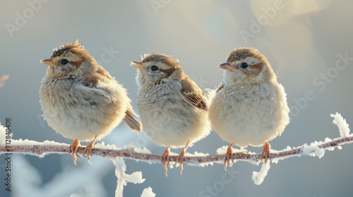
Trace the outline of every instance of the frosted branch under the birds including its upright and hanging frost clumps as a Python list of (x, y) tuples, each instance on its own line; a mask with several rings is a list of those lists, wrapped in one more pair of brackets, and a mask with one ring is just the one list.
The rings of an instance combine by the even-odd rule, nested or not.
[[(287, 148), (282, 151), (270, 150), (270, 155), (272, 158), (272, 163), (277, 163), (278, 160), (284, 160), (285, 158), (301, 155), (311, 155), (323, 157), (325, 150), (333, 151), (335, 147), (341, 149), (343, 144), (353, 143), (353, 134), (349, 134), (349, 125), (338, 113), (331, 115), (334, 117), (333, 123), (335, 123), (340, 129), (340, 137), (336, 139), (326, 138), (325, 141), (315, 141), (310, 145), (304, 144), (302, 146)], [(0, 139), (5, 139), (5, 130), (2, 127), (3, 132), (1, 132), (0, 127)], [(51, 154), (51, 153), (68, 153), (68, 144), (61, 144), (54, 141), (29, 141), (29, 140), (13, 140), (11, 141), (11, 146), (5, 146), (4, 140), (0, 146), (1, 153), (23, 153), (29, 155), (38, 155), (40, 157)], [(84, 147), (78, 148), (78, 154), (83, 154)], [(213, 165), (213, 163), (223, 163), (225, 160), (225, 152), (227, 151), (227, 146), (223, 146), (217, 150), (216, 155), (209, 155), (204, 153), (186, 153), (184, 157), (185, 165), (200, 166)], [(98, 155), (101, 157), (109, 158), (127, 158), (138, 161), (143, 161), (146, 163), (161, 163), (161, 155), (151, 154), (146, 148), (140, 149), (130, 144), (129, 146), (124, 146), (123, 148), (116, 148), (114, 145), (104, 145), (104, 142), (96, 144), (95, 148), (92, 148), (91, 155)], [(177, 158), (177, 153), (171, 153), (170, 160), (175, 161)], [(234, 161), (241, 160), (258, 165), (261, 163), (261, 153), (251, 153), (245, 149), (234, 149)], [(119, 162), (118, 162), (119, 163)], [(124, 169), (124, 168), (123, 168)], [(268, 170), (270, 169), (270, 163), (263, 165), (260, 172), (253, 172), (253, 181), (255, 184), (261, 184), (264, 177), (266, 176)], [(124, 170), (123, 170), (124, 171)], [(124, 174), (124, 172), (117, 171), (117, 174)], [(122, 176), (122, 175), (121, 175)], [(124, 176), (123, 176), (124, 177)], [(124, 182), (124, 179), (122, 179)]]

